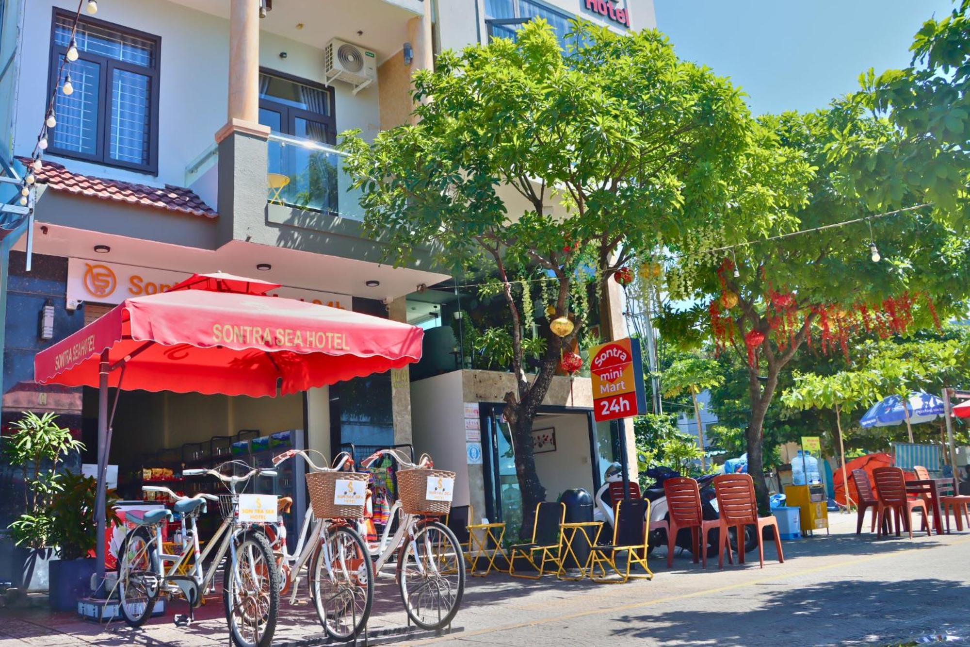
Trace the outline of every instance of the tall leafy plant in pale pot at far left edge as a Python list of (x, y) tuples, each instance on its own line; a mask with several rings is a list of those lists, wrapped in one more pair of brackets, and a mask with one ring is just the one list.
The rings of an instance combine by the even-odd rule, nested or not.
[(56, 418), (28, 411), (11, 425), (14, 432), (0, 446), (7, 464), (22, 472), (24, 511), (9, 528), (16, 546), (24, 550), (16, 556), (20, 572), (14, 574), (15, 583), (19, 579), (27, 591), (48, 589), (48, 564), (56, 559), (50, 541), (50, 502), (61, 491), (63, 477), (58, 468), (83, 448), (69, 429), (55, 423)]

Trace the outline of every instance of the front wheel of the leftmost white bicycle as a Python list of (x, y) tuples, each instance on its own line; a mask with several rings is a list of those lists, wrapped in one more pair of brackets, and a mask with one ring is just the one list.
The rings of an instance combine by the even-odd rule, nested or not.
[[(222, 600), (237, 647), (269, 647), (279, 615), (279, 569), (266, 535), (256, 530), (235, 539), (236, 564), (226, 560)], [(237, 576), (237, 572), (239, 575)]]

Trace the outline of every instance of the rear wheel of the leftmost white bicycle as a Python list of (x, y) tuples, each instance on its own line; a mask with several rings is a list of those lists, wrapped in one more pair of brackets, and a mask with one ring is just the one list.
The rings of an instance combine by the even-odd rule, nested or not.
[(158, 553), (146, 528), (128, 532), (118, 550), (118, 599), (129, 627), (141, 627), (151, 617), (158, 598)]

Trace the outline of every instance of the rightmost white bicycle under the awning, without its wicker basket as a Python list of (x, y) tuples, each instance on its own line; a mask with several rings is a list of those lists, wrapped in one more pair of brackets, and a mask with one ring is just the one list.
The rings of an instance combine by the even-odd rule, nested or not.
[[(361, 464), (370, 467), (384, 455), (393, 456), (403, 469), (432, 466), (428, 455), (415, 464), (393, 449), (381, 450)], [(361, 531), (366, 532), (363, 527)], [(396, 501), (371, 557), (376, 577), (397, 579), (404, 610), (416, 626), (442, 629), (458, 613), (465, 595), (465, 555), (455, 533), (436, 518), (405, 514), (402, 502)]]

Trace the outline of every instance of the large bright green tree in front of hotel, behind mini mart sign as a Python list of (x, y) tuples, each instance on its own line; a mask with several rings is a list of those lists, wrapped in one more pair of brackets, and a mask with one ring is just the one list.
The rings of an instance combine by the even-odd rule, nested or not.
[[(545, 498), (530, 432), (582, 330), (586, 283), (601, 291), (638, 250), (717, 222), (733, 197), (721, 179), (751, 139), (738, 90), (678, 59), (659, 32), (574, 29), (569, 43), (582, 45), (566, 50), (536, 19), (514, 42), (444, 51), (414, 77), (418, 123), (372, 145), (355, 133), (341, 142), (365, 226), (390, 260), (433, 245), (456, 273), (490, 266), (498, 276), (517, 378), (504, 416), (525, 510)], [(532, 380), (523, 366), (532, 300), (513, 292), (521, 279), (551, 285), (554, 317), (575, 323), (549, 338)], [(610, 334), (602, 313), (600, 329)]]

